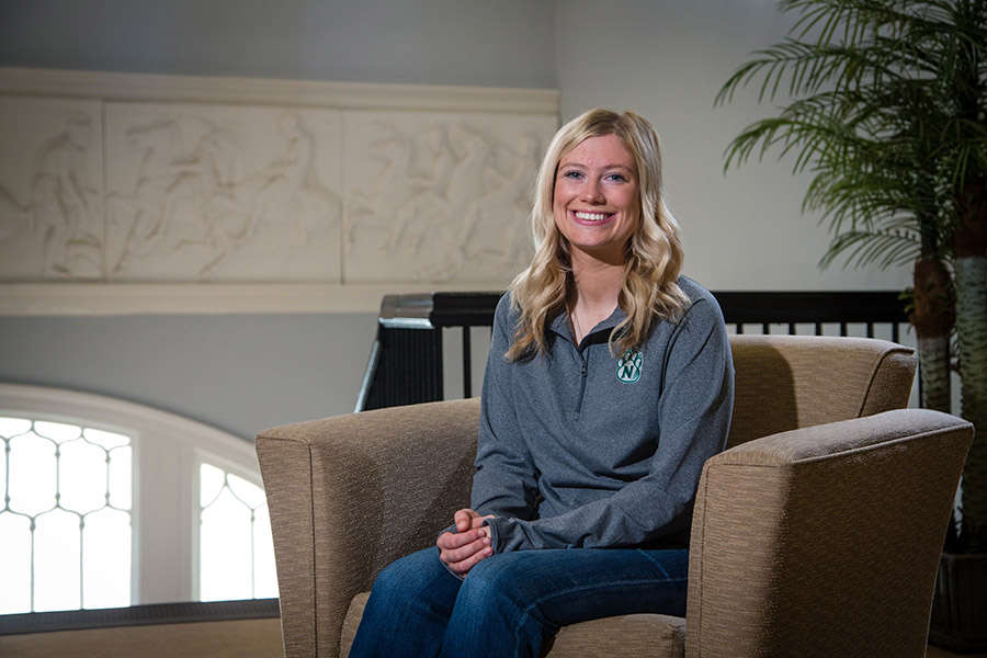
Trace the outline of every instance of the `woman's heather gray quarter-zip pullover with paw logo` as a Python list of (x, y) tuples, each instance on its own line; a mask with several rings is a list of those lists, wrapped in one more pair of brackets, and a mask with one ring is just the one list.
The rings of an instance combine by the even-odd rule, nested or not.
[(734, 367), (719, 305), (695, 282), (677, 321), (613, 355), (617, 308), (575, 344), (565, 314), (551, 354), (509, 362), (517, 327), (497, 306), (484, 377), (472, 509), (496, 553), (685, 547), (703, 463), (726, 444)]

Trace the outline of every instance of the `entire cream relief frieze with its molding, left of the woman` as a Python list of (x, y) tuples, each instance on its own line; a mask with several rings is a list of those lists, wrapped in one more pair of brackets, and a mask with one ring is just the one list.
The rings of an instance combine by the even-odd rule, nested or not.
[(0, 285), (496, 290), (557, 125), (551, 90), (0, 68)]

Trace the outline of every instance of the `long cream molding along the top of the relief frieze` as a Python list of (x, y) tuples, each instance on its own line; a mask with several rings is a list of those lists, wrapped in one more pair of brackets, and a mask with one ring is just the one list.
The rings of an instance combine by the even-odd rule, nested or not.
[(0, 93), (106, 101), (557, 114), (559, 91), (0, 67)]

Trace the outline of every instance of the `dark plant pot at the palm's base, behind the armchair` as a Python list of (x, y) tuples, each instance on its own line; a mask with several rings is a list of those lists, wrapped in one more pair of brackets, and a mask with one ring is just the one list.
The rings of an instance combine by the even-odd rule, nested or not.
[(929, 643), (955, 653), (987, 650), (987, 553), (943, 553)]

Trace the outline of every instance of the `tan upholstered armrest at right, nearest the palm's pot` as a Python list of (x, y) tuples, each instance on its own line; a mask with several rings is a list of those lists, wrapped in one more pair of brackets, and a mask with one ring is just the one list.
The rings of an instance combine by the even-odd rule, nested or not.
[(712, 457), (693, 517), (687, 656), (921, 656), (972, 439), (958, 418), (899, 409)]

